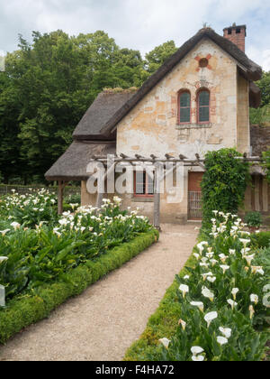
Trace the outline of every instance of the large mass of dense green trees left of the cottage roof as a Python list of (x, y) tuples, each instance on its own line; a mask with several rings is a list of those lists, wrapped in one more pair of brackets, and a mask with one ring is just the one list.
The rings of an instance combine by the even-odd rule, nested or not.
[(139, 51), (120, 49), (105, 32), (19, 36), (0, 72), (0, 172), (9, 180), (44, 180), (72, 132), (105, 87), (139, 87)]

